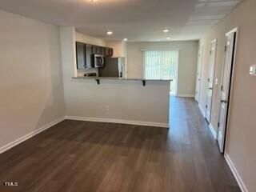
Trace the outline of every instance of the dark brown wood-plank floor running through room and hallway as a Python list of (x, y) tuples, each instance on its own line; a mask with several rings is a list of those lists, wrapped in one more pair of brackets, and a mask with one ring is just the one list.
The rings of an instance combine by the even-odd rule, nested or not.
[(170, 103), (170, 130), (66, 120), (22, 142), (0, 154), (0, 191), (240, 191), (194, 100)]

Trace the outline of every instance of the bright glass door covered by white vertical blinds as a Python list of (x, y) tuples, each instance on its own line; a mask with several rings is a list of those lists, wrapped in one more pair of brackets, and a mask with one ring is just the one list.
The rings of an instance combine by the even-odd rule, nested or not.
[(144, 78), (172, 79), (170, 94), (177, 94), (178, 50), (144, 51)]

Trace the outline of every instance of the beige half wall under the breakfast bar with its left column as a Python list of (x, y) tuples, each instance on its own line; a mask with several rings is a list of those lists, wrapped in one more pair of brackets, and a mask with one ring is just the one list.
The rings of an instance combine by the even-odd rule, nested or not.
[[(66, 115), (130, 122), (153, 122), (168, 126), (170, 82), (72, 79), (75, 32), (61, 28)], [(94, 42), (90, 42), (94, 44)]]

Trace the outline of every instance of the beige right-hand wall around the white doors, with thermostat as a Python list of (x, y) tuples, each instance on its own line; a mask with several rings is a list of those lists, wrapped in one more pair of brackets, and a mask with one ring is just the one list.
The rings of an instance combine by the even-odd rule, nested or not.
[[(210, 41), (218, 39), (214, 78), (220, 82), (224, 61), (226, 32), (238, 26), (238, 44), (234, 64), (234, 82), (230, 103), (229, 126), (226, 138), (226, 155), (233, 162), (244, 189), (256, 191), (256, 77), (249, 74), (250, 66), (256, 63), (256, 1), (242, 2), (230, 15), (214, 26), (201, 39), (204, 47), (202, 65), (202, 94), (199, 105), (205, 109), (206, 86), (209, 64)], [(217, 130), (218, 106), (221, 83), (214, 85), (214, 98), (211, 123)], [(241, 182), (242, 181), (242, 182)]]

